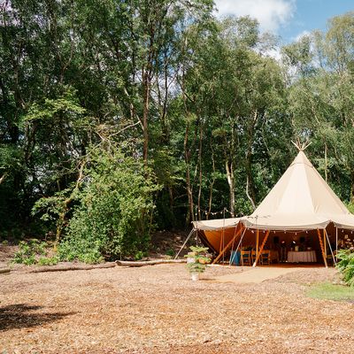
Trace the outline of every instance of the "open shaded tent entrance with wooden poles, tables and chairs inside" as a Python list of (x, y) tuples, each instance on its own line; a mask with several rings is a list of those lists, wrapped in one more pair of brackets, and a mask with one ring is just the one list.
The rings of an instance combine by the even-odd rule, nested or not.
[[(336, 232), (332, 225), (315, 230), (257, 230), (228, 227), (225, 230), (198, 230), (202, 242), (217, 255), (213, 263), (264, 266), (299, 266), (302, 264), (331, 266), (336, 245)], [(204, 242), (206, 243), (206, 242)], [(235, 256), (235, 252), (238, 255)], [(250, 253), (249, 253), (250, 252)], [(267, 254), (266, 259), (264, 253)], [(247, 261), (243, 261), (243, 256)], [(250, 258), (250, 260), (249, 260)]]

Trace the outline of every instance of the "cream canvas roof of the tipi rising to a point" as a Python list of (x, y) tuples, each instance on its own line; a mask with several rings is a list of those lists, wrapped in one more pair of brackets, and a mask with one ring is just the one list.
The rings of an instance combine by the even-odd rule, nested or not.
[(211, 230), (233, 227), (266, 230), (310, 230), (336, 227), (354, 229), (351, 214), (300, 150), (287, 171), (258, 208), (248, 217), (194, 222), (194, 227)]

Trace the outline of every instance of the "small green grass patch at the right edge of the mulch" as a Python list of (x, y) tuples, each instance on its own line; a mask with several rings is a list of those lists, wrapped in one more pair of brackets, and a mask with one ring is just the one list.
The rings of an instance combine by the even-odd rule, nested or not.
[(344, 285), (321, 282), (307, 290), (307, 296), (335, 301), (354, 301), (354, 288)]

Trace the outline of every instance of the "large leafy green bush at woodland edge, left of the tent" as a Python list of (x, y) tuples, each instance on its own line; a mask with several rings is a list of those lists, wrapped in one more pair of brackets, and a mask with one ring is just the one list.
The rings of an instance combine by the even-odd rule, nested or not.
[(63, 260), (136, 258), (150, 244), (152, 196), (158, 189), (142, 163), (119, 149), (94, 150), (78, 205), (60, 242)]

